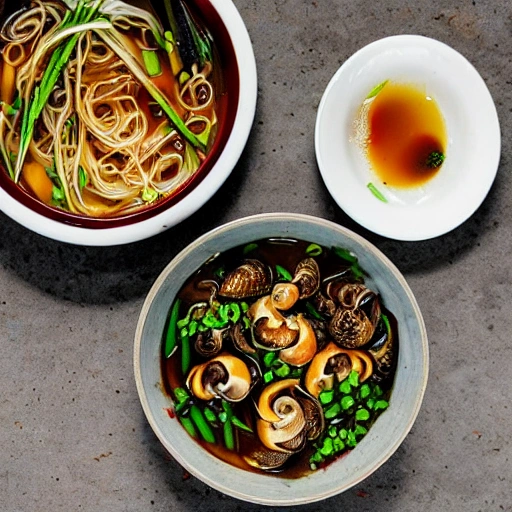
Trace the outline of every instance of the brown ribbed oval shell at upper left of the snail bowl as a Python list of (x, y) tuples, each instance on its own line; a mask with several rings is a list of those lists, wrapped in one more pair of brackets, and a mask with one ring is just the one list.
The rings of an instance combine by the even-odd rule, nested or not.
[(222, 282), (219, 295), (232, 299), (258, 297), (272, 289), (272, 271), (259, 260), (246, 260)]

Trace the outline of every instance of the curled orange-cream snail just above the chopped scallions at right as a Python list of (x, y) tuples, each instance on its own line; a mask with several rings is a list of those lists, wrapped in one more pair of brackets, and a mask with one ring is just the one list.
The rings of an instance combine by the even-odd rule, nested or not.
[(364, 382), (372, 375), (372, 358), (362, 350), (347, 350), (331, 342), (311, 361), (304, 384), (312, 396), (318, 397), (322, 390), (344, 380), (351, 370)]

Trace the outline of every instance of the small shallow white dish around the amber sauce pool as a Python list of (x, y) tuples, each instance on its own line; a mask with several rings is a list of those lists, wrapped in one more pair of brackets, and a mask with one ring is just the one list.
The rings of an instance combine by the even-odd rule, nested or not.
[[(424, 86), (446, 123), (446, 160), (419, 188), (380, 183), (351, 138), (362, 102), (385, 80)], [(460, 53), (423, 36), (392, 36), (356, 52), (331, 79), (318, 108), (315, 150), (327, 189), (359, 224), (396, 240), (433, 238), (468, 219), (494, 181), (500, 147), (496, 108), (482, 77)], [(370, 192), (370, 182), (387, 203)]]

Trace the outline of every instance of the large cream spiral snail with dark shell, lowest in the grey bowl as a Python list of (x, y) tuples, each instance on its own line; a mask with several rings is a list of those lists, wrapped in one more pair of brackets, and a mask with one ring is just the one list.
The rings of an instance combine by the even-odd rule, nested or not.
[(298, 379), (268, 385), (258, 400), (258, 413), (258, 437), (273, 451), (296, 453), (302, 450), (307, 439), (315, 439), (322, 430), (322, 409), (313, 397), (300, 389)]

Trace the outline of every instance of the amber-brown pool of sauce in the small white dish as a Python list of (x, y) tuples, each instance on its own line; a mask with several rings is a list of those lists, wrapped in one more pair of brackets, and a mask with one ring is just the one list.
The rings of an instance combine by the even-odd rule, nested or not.
[(362, 109), (364, 147), (382, 183), (397, 188), (423, 185), (441, 166), (428, 164), (433, 152), (445, 154), (447, 134), (436, 102), (411, 84), (389, 82)]

